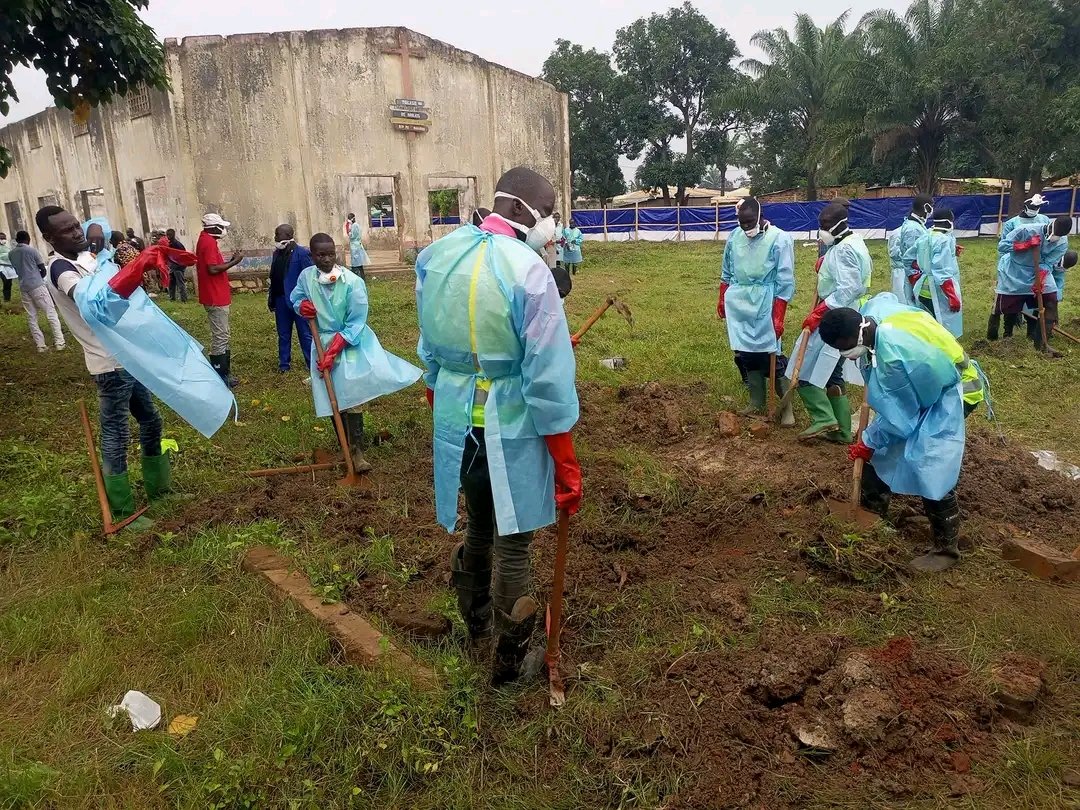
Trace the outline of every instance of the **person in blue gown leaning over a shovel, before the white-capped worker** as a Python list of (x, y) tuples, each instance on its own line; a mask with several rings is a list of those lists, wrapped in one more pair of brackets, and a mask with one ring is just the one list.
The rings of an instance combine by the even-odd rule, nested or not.
[[(1057, 281), (1054, 267), (1062, 261), (1068, 251), (1068, 233), (1072, 219), (1057, 217), (1052, 222), (1021, 225), (1014, 227), (1009, 237), (998, 243), (998, 283), (995, 308), (1004, 315), (1005, 337), (1023, 316), (1025, 309), (1037, 313), (1038, 295), (1042, 294), (1042, 305), (1047, 319), (1047, 338), (1057, 323)], [(1035, 265), (1035, 254), (1039, 254), (1039, 265)], [(1028, 321), (1027, 336), (1037, 349), (1045, 349), (1056, 354), (1049, 343), (1043, 346), (1038, 319)]]

